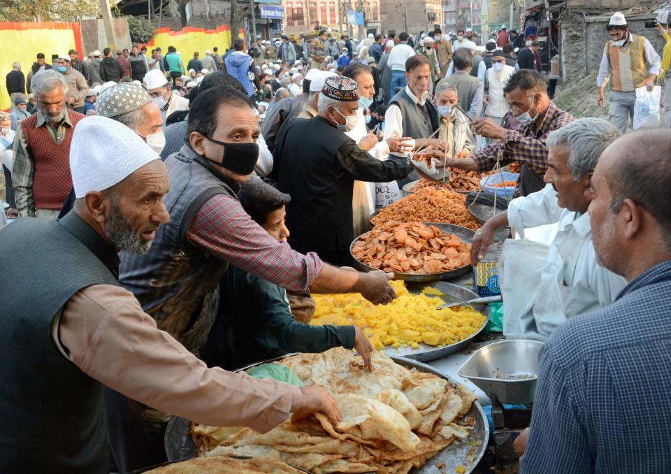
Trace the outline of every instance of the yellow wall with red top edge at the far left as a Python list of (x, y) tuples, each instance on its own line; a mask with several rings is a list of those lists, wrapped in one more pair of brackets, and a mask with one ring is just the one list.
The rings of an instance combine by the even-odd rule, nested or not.
[(79, 23), (57, 22), (0, 22), (0, 109), (10, 108), (11, 103), (5, 77), (12, 70), (13, 62), (21, 63), (21, 71), (28, 76), (38, 52), (43, 52), (51, 64), (51, 55), (67, 54), (74, 49), (83, 57), (82, 36)]

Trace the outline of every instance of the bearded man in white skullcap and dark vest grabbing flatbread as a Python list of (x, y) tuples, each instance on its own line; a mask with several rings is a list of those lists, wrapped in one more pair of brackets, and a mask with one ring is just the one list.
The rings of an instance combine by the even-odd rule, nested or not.
[(212, 426), (266, 432), (290, 412), (340, 421), (321, 387), (207, 368), (121, 287), (117, 252), (147, 252), (169, 219), (166, 166), (137, 134), (106, 117), (80, 120), (70, 168), (74, 212), (0, 230), (0, 285), (13, 288), (0, 294), (4, 471), (109, 473), (105, 385)]

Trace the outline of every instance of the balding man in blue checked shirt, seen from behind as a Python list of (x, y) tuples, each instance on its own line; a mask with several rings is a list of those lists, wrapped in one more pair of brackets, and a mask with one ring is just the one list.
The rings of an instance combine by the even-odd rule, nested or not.
[(612, 305), (565, 322), (542, 348), (521, 474), (669, 472), (670, 156), (668, 130), (642, 129), (598, 161), (594, 251), (629, 284)]

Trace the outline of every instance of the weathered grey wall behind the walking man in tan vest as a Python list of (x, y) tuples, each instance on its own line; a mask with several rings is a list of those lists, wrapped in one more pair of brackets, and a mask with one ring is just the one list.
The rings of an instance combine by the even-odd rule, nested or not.
[[(644, 27), (644, 23), (654, 20), (655, 16), (654, 13), (628, 15), (627, 21), (630, 31), (648, 38), (661, 55), (664, 47), (661, 34), (656, 29)], [(564, 18), (561, 24), (564, 79), (582, 77), (598, 71), (604, 45), (609, 40), (606, 31), (609, 17), (610, 15), (602, 15), (583, 18), (582, 15), (572, 15)]]

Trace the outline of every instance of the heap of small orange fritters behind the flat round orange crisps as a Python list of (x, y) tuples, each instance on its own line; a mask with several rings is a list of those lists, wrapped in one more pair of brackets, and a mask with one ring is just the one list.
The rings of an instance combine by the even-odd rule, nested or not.
[(447, 189), (420, 189), (382, 208), (371, 222), (446, 222), (474, 231), (481, 226), (466, 209), (466, 196)]

